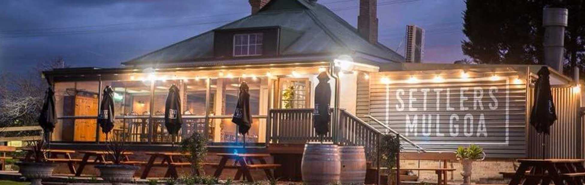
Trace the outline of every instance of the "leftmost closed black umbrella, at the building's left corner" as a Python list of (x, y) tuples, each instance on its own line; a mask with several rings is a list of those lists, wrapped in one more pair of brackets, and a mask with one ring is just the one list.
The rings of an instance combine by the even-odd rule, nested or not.
[[(44, 95), (43, 109), (40, 111), (39, 125), (43, 128), (44, 133), (51, 133), (57, 123), (57, 116), (55, 112), (55, 92), (53, 88), (47, 88)], [(45, 134), (46, 141), (49, 141), (49, 135)]]

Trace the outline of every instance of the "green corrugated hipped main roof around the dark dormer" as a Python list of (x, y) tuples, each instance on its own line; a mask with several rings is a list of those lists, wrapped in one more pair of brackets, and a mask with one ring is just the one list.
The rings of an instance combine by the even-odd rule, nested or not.
[[(310, 4), (307, 0), (272, 0), (256, 15), (247, 16), (217, 29), (270, 26), (280, 26), (291, 31), (282, 32), (281, 37), (286, 37), (287, 33), (297, 37), (296, 40), (288, 41), (288, 46), (281, 46), (281, 57), (323, 53), (348, 54), (356, 51), (388, 61), (404, 61), (404, 57), (383, 44), (371, 44), (360, 37), (355, 27), (325, 6)], [(214, 60), (213, 48), (214, 32), (209, 31), (123, 62), (123, 64)]]

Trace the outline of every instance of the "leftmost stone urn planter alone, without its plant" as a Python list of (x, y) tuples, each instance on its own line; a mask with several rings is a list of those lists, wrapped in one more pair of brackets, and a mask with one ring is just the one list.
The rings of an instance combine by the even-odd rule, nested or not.
[(42, 185), (40, 182), (43, 179), (51, 177), (53, 169), (57, 166), (56, 163), (36, 163), (36, 162), (20, 162), (16, 163), (20, 170), (18, 172), (26, 179), (30, 180), (31, 185)]

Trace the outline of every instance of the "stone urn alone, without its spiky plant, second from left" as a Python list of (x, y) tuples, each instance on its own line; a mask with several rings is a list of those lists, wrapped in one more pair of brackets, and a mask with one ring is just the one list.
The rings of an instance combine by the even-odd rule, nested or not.
[(129, 183), (133, 180), (134, 173), (140, 169), (132, 165), (95, 165), (99, 169), (99, 176), (112, 184)]

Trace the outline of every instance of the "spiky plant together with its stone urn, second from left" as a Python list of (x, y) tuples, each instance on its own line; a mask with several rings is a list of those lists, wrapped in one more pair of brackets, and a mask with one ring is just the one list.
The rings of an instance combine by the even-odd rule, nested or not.
[(122, 159), (125, 158), (124, 153), (126, 152), (125, 141), (118, 137), (111, 137), (106, 139), (106, 146), (106, 150), (112, 158), (112, 163), (95, 165), (95, 168), (99, 169), (99, 176), (112, 184), (129, 183), (132, 181), (134, 173), (140, 167), (122, 164)]

